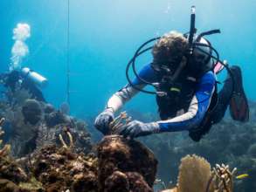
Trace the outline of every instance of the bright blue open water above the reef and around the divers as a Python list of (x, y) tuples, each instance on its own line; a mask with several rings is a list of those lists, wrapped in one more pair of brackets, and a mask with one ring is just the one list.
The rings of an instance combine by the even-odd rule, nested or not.
[[(127, 84), (125, 68), (139, 45), (171, 30), (189, 31), (191, 5), (197, 7), (198, 31), (222, 31), (209, 40), (222, 59), (241, 66), (247, 96), (255, 100), (255, 0), (70, 0), (72, 113), (99, 113)], [(30, 24), (30, 54), (23, 65), (49, 79), (43, 90), (47, 101), (55, 106), (66, 101), (67, 0), (1, 0), (0, 17), (0, 72), (10, 63), (12, 30), (17, 23)], [(150, 54), (139, 61), (138, 68)], [(142, 93), (128, 108), (156, 113), (155, 98)]]

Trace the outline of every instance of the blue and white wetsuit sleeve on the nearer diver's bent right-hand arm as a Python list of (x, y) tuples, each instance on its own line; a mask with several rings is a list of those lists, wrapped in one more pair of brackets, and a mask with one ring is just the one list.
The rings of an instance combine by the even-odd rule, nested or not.
[(157, 121), (159, 131), (175, 132), (199, 126), (210, 106), (215, 82), (216, 79), (213, 72), (205, 73), (197, 84), (197, 90), (191, 99), (188, 111), (170, 120)]

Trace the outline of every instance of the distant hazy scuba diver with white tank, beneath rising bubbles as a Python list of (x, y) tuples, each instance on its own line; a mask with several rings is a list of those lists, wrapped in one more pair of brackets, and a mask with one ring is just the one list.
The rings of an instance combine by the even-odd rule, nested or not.
[(12, 70), (1, 74), (0, 83), (10, 88), (11, 93), (14, 93), (17, 88), (24, 89), (31, 94), (31, 99), (45, 102), (44, 95), (38, 87), (46, 86), (47, 79), (27, 67), (21, 71)]

